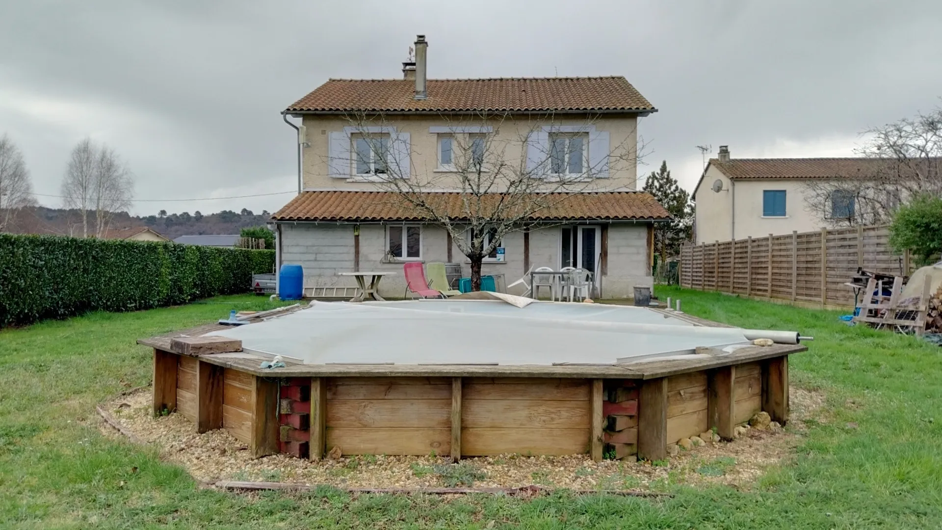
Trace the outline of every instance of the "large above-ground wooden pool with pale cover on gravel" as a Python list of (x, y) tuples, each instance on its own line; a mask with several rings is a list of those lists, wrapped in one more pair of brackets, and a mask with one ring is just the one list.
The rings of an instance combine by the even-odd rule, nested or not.
[[(660, 459), (712, 428), (732, 439), (758, 411), (788, 420), (797, 334), (526, 304), (317, 302), (138, 342), (154, 348), (155, 413), (224, 428), (256, 456)], [(790, 343), (752, 345), (763, 335)], [(261, 367), (276, 355), (284, 367)]]

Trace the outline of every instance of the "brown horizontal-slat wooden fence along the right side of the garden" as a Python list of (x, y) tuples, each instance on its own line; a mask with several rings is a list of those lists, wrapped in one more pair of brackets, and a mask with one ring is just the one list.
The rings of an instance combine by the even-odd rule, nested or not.
[(680, 285), (822, 306), (853, 306), (853, 289), (844, 284), (858, 267), (908, 275), (912, 264), (909, 253), (893, 253), (887, 226), (822, 228), (685, 245), (680, 251)]

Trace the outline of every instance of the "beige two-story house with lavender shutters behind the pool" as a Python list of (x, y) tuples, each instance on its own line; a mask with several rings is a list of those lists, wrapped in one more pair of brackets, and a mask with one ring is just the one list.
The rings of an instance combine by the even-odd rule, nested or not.
[[(427, 45), (419, 36), (401, 79), (331, 79), (284, 110), (301, 119), (301, 190), (272, 217), (279, 266), (300, 264), (305, 286), (348, 283), (340, 272), (398, 272), (381, 284), (394, 297), (407, 261), (459, 263), (467, 275), (451, 235), (387, 181), (425, 183), (460, 223), (465, 157), (485, 175), (538, 179), (527, 189), (560, 195), (504, 236), (482, 273), (512, 281), (531, 267), (581, 267), (604, 297), (651, 286), (652, 227), (670, 216), (636, 190), (635, 151), (639, 119), (657, 109), (622, 76), (428, 79)], [(508, 182), (491, 194), (519, 184)]]

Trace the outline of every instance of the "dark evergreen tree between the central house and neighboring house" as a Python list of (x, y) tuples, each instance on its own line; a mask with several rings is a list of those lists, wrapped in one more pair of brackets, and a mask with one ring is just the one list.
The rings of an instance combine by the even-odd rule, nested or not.
[(667, 169), (667, 160), (652, 172), (642, 189), (654, 195), (674, 219), (670, 223), (658, 223), (654, 227), (654, 251), (663, 263), (668, 257), (680, 254), (680, 245), (693, 236), (693, 205), (690, 193), (680, 187)]

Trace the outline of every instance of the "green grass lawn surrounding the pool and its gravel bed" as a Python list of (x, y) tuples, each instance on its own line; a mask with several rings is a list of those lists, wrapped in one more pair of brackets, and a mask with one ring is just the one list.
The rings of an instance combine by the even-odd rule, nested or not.
[(826, 393), (828, 421), (752, 488), (668, 485), (675, 496), (660, 500), (236, 495), (198, 489), (153, 450), (100, 434), (94, 406), (151, 377), (151, 352), (136, 339), (271, 306), (245, 295), (0, 331), (0, 527), (942, 528), (942, 350), (848, 327), (834, 311), (657, 294), (707, 319), (815, 337), (791, 357), (790, 375)]

